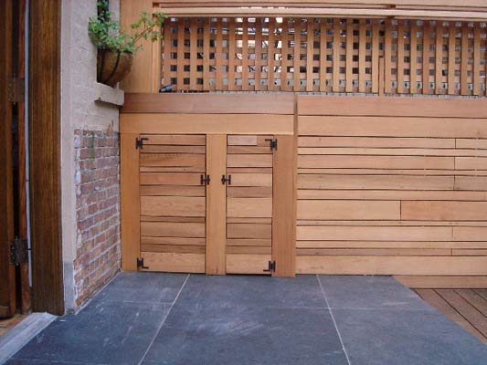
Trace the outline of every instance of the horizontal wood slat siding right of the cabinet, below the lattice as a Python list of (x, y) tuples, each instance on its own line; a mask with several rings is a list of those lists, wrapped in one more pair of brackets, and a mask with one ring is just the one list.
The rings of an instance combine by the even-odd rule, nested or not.
[(297, 272), (480, 285), (485, 101), (366, 100), (298, 97)]

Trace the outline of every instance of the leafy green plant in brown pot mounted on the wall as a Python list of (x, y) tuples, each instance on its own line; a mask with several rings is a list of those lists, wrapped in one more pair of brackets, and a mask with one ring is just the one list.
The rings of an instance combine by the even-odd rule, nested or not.
[(98, 16), (90, 18), (88, 33), (91, 41), (98, 48), (97, 79), (113, 86), (121, 81), (132, 67), (133, 56), (142, 45), (141, 39), (156, 41), (161, 37), (160, 28), (164, 23), (163, 14), (150, 15), (141, 13), (140, 19), (130, 27), (132, 34), (127, 34), (118, 21), (112, 20), (108, 1), (97, 3)]

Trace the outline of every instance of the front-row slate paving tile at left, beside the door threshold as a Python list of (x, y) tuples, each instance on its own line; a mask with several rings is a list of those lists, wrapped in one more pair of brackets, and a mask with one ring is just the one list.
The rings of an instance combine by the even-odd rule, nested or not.
[(165, 304), (92, 302), (78, 315), (50, 324), (14, 359), (136, 364), (168, 309)]

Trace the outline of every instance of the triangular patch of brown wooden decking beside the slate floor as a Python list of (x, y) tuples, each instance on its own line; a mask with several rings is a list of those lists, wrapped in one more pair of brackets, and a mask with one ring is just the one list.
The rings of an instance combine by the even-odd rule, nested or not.
[(417, 289), (420, 297), (487, 344), (487, 289)]

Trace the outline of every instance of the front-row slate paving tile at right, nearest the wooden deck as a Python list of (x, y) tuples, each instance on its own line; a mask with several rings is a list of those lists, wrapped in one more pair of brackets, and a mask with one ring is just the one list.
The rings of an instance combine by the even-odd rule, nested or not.
[(436, 311), (333, 309), (333, 317), (352, 364), (487, 364), (487, 346)]

